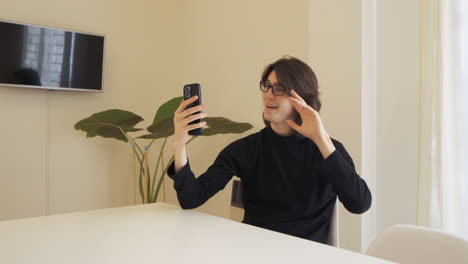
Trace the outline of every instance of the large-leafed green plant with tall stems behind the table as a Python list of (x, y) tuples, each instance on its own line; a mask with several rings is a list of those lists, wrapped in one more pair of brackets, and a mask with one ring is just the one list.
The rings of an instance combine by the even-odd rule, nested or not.
[[(110, 109), (95, 113), (90, 117), (78, 121), (74, 127), (76, 130), (86, 132), (88, 138), (101, 136), (129, 143), (134, 156), (138, 159), (138, 182), (141, 200), (143, 203), (154, 203), (158, 198), (159, 190), (164, 176), (167, 173), (167, 169), (174, 160), (174, 156), (172, 156), (172, 158), (164, 164), (163, 151), (167, 139), (174, 134), (174, 112), (177, 107), (179, 107), (182, 100), (182, 97), (176, 97), (162, 104), (156, 111), (153, 123), (146, 128), (149, 133), (137, 137), (130, 136), (130, 133), (144, 130), (142, 128), (135, 128), (138, 123), (143, 121), (143, 118), (132, 112), (120, 109)], [(252, 125), (249, 123), (237, 123), (224, 117), (207, 117), (204, 118), (204, 121), (207, 123), (207, 128), (203, 130), (201, 136), (228, 133), (240, 134), (252, 128)], [(198, 136), (193, 136), (187, 144), (197, 137)], [(138, 143), (137, 139), (144, 139), (145, 142), (149, 142), (149, 144), (145, 144), (145, 146), (142, 147), (142, 143)], [(159, 150), (155, 168), (151, 170), (148, 165), (148, 152), (157, 139), (163, 139), (164, 141)]]

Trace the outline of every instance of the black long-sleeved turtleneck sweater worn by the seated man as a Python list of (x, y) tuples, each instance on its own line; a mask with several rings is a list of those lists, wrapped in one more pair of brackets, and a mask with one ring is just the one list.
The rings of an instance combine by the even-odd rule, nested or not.
[(371, 206), (371, 193), (343, 145), (323, 159), (308, 138), (279, 136), (270, 127), (239, 139), (195, 178), (187, 163), (174, 174), (179, 203), (196, 208), (224, 189), (233, 176), (242, 181), (244, 223), (326, 243), (336, 197), (351, 213)]

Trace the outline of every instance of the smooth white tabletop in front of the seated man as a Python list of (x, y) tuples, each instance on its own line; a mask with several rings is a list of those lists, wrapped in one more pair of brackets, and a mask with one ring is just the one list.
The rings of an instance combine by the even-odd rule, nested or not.
[(391, 263), (169, 204), (0, 222), (0, 263)]

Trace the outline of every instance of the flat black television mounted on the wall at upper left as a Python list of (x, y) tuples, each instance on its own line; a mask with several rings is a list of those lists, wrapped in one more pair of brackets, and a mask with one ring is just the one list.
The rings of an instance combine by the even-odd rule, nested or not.
[(104, 36), (0, 20), (0, 86), (103, 90)]

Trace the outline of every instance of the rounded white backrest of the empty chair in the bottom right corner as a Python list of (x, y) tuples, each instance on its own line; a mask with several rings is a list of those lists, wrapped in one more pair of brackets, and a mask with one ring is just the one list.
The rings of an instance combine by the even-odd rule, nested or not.
[(468, 241), (430, 228), (394, 225), (377, 236), (366, 254), (401, 264), (466, 264)]

